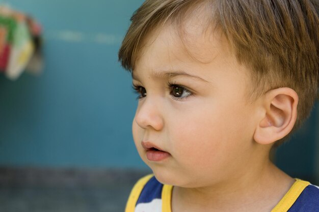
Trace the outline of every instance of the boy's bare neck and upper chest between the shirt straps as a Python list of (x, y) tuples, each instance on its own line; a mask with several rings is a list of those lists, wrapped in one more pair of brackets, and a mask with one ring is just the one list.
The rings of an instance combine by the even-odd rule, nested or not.
[(221, 185), (205, 188), (174, 187), (172, 212), (269, 212), (295, 180), (270, 161), (265, 167)]

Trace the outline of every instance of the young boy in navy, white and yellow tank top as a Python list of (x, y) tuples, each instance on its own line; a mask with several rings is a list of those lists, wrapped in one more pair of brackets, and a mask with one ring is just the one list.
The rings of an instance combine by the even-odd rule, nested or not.
[(319, 188), (269, 159), (317, 95), (318, 10), (316, 0), (147, 0), (135, 12), (119, 60), (153, 175), (126, 212), (319, 211)]

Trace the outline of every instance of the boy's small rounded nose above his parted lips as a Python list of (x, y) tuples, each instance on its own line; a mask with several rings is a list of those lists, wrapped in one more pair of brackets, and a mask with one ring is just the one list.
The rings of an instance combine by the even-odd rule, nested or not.
[(163, 107), (158, 101), (146, 98), (139, 103), (135, 114), (135, 122), (143, 129), (153, 128), (156, 131), (162, 130), (164, 120), (161, 109)]

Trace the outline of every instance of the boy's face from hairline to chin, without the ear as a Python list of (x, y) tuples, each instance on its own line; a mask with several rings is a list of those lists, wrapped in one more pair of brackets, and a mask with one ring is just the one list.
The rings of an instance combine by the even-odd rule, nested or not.
[(248, 103), (248, 70), (219, 33), (196, 25), (185, 25), (185, 45), (173, 25), (158, 29), (132, 73), (141, 93), (132, 132), (142, 160), (162, 183), (190, 188), (245, 174), (258, 158), (260, 113)]

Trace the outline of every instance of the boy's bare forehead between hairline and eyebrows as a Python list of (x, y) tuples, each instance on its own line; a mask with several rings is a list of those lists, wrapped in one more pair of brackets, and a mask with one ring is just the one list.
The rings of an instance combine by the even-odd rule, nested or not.
[[(199, 26), (196, 20), (185, 22), (182, 28), (166, 23), (150, 32), (144, 40), (135, 68), (167, 70), (174, 69), (171, 65), (175, 63), (207, 64), (222, 51), (227, 52), (228, 44), (222, 34), (217, 29)], [(164, 55), (165, 61), (161, 60)]]

